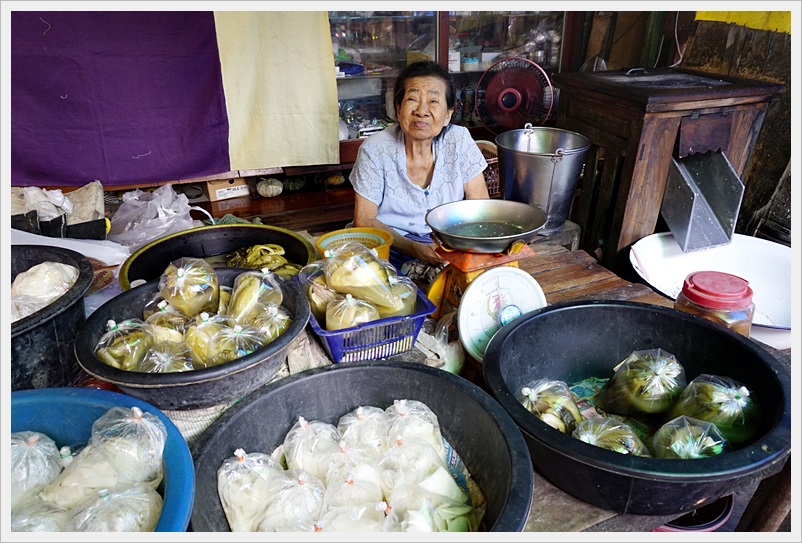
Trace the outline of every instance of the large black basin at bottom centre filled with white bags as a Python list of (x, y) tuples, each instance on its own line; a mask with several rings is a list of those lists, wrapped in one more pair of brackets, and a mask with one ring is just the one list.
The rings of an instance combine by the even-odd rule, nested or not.
[(485, 391), (424, 364), (365, 361), (308, 370), (271, 383), (225, 411), (192, 446), (197, 492), (190, 528), (229, 530), (217, 492), (217, 469), (234, 451), (272, 453), (299, 416), (337, 424), (360, 405), (396, 399), (424, 402), (457, 451), (488, 507), (485, 523), (522, 531), (533, 496), (532, 461), (509, 415)]

